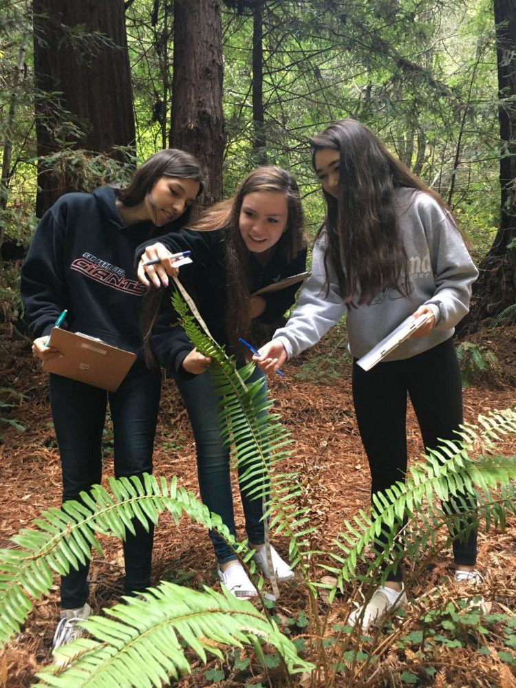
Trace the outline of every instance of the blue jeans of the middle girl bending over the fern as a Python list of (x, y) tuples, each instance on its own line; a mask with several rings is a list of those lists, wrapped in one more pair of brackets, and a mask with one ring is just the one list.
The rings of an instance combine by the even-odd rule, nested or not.
[[(264, 372), (256, 368), (248, 382), (264, 380)], [(219, 397), (215, 394), (208, 372), (197, 375), (191, 380), (176, 380), (178, 389), (188, 411), (195, 446), (197, 447), (197, 473), (201, 499), (208, 509), (222, 518), (232, 535), (236, 535), (233, 494), (229, 471), (229, 450), (224, 447), (220, 436)], [(248, 471), (249, 464), (239, 466), (239, 477)], [(246, 490), (240, 490), (246, 533), (252, 544), (264, 542), (264, 522), (261, 498), (252, 499)], [(233, 550), (215, 533), (210, 533), (215, 555), (219, 562), (237, 559)]]

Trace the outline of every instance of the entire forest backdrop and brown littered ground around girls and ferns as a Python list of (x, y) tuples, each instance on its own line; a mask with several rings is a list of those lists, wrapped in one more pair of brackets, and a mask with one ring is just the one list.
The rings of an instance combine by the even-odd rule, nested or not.
[[(32, 361), (19, 296), (21, 263), (38, 219), (63, 193), (123, 184), (149, 155), (175, 147), (196, 155), (206, 171), (204, 206), (228, 197), (259, 164), (290, 169), (301, 187), (311, 246), (324, 204), (308, 139), (345, 117), (369, 125), (449, 204), (480, 268), (457, 340), (466, 418), (513, 407), (516, 0), (0, 0), (3, 546), (12, 547), (8, 538), (18, 528), (29, 527), (49, 503), (58, 504), (61, 489), (47, 380)], [(270, 383), (295, 433), (303, 506), (312, 509), (310, 522), (318, 528), (316, 548), (329, 547), (343, 519), (368, 506), (345, 350), (341, 324), (305, 358), (288, 362), (286, 386)], [(155, 472), (178, 475), (195, 491), (190, 432), (170, 382), (162, 395)], [(409, 414), (411, 458), (422, 451), (418, 432)], [(109, 422), (104, 439), (109, 461)], [(513, 439), (506, 438), (500, 451), (514, 455)], [(482, 535), (480, 543), (480, 565), (491, 568), (489, 590), (498, 603), (492, 619), (482, 626), (477, 615), (462, 623), (449, 612), (443, 625), (436, 616), (423, 627), (416, 610), (401, 649), (396, 628), (389, 640), (376, 636), (374, 648), (383, 649), (374, 662), (362, 652), (352, 665), (338, 664), (347, 678), (339, 674), (339, 683), (334, 674), (332, 685), (515, 686), (510, 572), (516, 539), (514, 526), (508, 528)], [(214, 585), (206, 543), (198, 524), (165, 524), (155, 540), (155, 579), (191, 588)], [(116, 552), (109, 545), (95, 570), (102, 581), (96, 610), (120, 594), (122, 560)], [(436, 592), (447, 566), (439, 557), (413, 588), (436, 608), (453, 597)], [(289, 589), (276, 618), (282, 632), (299, 640), (300, 652), (303, 643), (312, 649), (319, 643), (322, 652), (331, 643), (323, 645), (305, 615), (306, 599)], [(339, 604), (337, 599), (335, 623), (347, 618)], [(50, 661), (56, 610), (54, 586), (21, 637), (0, 654), (0, 688), (32, 685), (36, 670)], [(439, 639), (424, 645), (430, 628)], [(262, 676), (255, 659), (237, 650), (228, 657), (226, 663), (211, 658), (205, 674), (203, 666), (180, 685), (211, 685), (224, 676), (228, 687), (261, 686), (262, 679), (264, 685), (287, 685), (283, 678), (267, 683), (267, 670)], [(279, 658), (270, 662), (274, 671)]]

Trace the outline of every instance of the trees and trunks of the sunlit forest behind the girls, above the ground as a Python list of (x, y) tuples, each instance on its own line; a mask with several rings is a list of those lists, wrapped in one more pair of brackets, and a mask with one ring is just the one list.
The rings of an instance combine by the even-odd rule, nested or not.
[[(37, 217), (65, 191), (123, 182), (163, 147), (198, 155), (206, 205), (257, 164), (288, 167), (313, 235), (323, 206), (308, 137), (342, 117), (442, 195), (480, 261), (509, 210), (514, 22), (513, 3), (497, 0), (2, 0), (6, 321), (21, 315), (9, 259)], [(478, 319), (514, 303), (507, 281)]]

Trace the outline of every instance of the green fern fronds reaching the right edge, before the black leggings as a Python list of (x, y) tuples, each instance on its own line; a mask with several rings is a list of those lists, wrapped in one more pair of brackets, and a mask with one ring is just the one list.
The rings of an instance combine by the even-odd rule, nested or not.
[[(424, 456), (424, 462), (410, 466), (405, 483), (397, 482), (385, 491), (385, 494), (374, 495), (369, 513), (362, 510), (360, 517), (354, 517), (354, 524), (345, 522), (345, 530), (334, 541), (340, 553), (332, 555), (340, 566), (324, 566), (337, 574), (341, 588), (344, 580), (348, 581), (354, 577), (358, 561), (365, 561), (365, 548), (377, 542), (380, 533), (384, 533), (387, 541), (382, 544), (383, 553), (369, 566), (369, 572), (377, 568), (381, 561), (388, 561), (389, 570), (396, 566), (402, 557), (402, 551), (401, 548), (393, 547), (397, 537), (395, 526), (399, 528), (405, 517), (413, 519), (415, 514), (420, 514), (424, 500), (427, 502), (429, 518), (426, 530), (428, 537), (433, 537), (432, 519), (437, 519), (434, 524), (436, 525), (440, 517), (439, 508), (434, 504), (436, 497), (447, 501), (450, 497), (460, 499), (460, 495), (478, 495), (475, 485), (484, 491), (484, 494), (489, 495), (490, 489), (500, 487), (509, 495), (505, 502), (505, 506), (508, 506), (511, 494), (510, 481), (516, 477), (516, 460), (513, 457), (497, 458), (489, 454), (493, 453), (495, 442), (508, 433), (516, 433), (516, 412), (513, 409), (493, 411), (488, 416), (479, 416), (477, 423), (477, 427), (464, 424), (458, 433), (460, 440), (443, 441), (437, 450), (429, 451)], [(470, 453), (473, 451), (484, 451), (488, 455), (482, 456), (479, 460), (472, 460)], [(486, 508), (490, 503), (489, 499), (491, 497), (488, 496)], [(497, 500), (493, 505), (495, 503)], [(464, 504), (464, 510), (469, 511), (467, 504)], [(474, 512), (474, 509), (471, 510), (471, 513)], [(480, 513), (482, 514), (482, 511)], [(491, 510), (484, 515), (486, 524), (491, 522), (491, 518), (499, 520), (500, 517), (499, 512), (496, 514)], [(464, 529), (461, 526), (462, 519), (464, 513), (461, 509), (458, 515), (447, 513), (442, 522), (451, 522), (450, 527), (457, 533), (457, 528)], [(471, 527), (473, 526), (466, 526), (466, 529), (471, 530)], [(425, 544), (421, 538), (419, 542)]]

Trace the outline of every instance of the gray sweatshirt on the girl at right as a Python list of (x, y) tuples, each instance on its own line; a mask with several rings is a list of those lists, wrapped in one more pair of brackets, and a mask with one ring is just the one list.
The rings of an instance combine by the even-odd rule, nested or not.
[(406, 188), (395, 193), (398, 227), (408, 258), (409, 297), (397, 289), (384, 288), (369, 305), (346, 308), (331, 264), (330, 292), (326, 296), (323, 230), (314, 244), (312, 275), (305, 282), (288, 323), (274, 334), (289, 358), (317, 343), (346, 311), (350, 353), (360, 358), (420, 305), (431, 306), (436, 326), (430, 334), (408, 339), (385, 361), (410, 358), (446, 341), (468, 312), (471, 285), (478, 270), (453, 219), (427, 193)]

